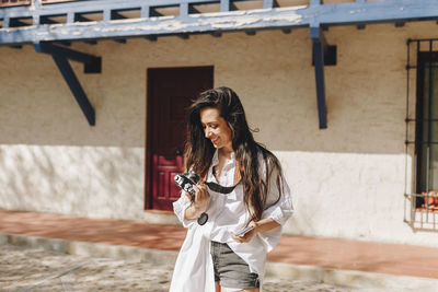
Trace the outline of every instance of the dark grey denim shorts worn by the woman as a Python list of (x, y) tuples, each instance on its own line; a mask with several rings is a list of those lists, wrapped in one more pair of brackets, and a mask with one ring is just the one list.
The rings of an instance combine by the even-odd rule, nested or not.
[(224, 243), (211, 242), (211, 258), (215, 282), (223, 288), (260, 288), (258, 275), (250, 271), (250, 266)]

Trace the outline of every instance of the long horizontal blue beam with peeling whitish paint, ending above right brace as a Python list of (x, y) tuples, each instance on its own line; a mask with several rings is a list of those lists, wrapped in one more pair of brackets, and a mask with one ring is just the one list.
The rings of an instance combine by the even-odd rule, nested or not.
[[(298, 10), (298, 9), (297, 9)], [(83, 22), (25, 27), (20, 33), (0, 30), (0, 44), (21, 44), (54, 40), (107, 39), (147, 35), (177, 35), (192, 33), (232, 32), (260, 28), (284, 28), (301, 23), (297, 10), (231, 11), (228, 13), (196, 14), (186, 16), (146, 17), (123, 22)], [(152, 11), (152, 10), (150, 10)], [(69, 15), (69, 14), (68, 14)], [(242, 21), (247, 19), (247, 22)]]

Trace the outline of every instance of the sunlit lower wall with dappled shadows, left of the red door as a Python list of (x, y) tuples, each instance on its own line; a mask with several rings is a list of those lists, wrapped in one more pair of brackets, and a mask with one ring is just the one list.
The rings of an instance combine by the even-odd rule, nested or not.
[(142, 154), (126, 148), (2, 145), (0, 201), (12, 210), (135, 217), (143, 206)]

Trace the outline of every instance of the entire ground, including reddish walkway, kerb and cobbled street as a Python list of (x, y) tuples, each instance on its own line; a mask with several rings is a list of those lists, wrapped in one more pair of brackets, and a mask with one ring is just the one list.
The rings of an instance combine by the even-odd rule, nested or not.
[[(168, 223), (0, 210), (0, 244), (62, 253), (0, 245), (0, 291), (168, 291), (173, 266), (162, 264), (174, 262), (185, 233)], [(284, 234), (267, 261), (268, 292), (437, 292), (436, 247)]]

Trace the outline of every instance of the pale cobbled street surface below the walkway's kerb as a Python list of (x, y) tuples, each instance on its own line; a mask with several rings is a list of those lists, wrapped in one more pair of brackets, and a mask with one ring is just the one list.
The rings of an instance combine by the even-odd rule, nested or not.
[[(36, 248), (0, 246), (0, 291), (168, 291), (171, 265), (90, 258)], [(311, 281), (267, 278), (265, 292), (347, 292)]]

